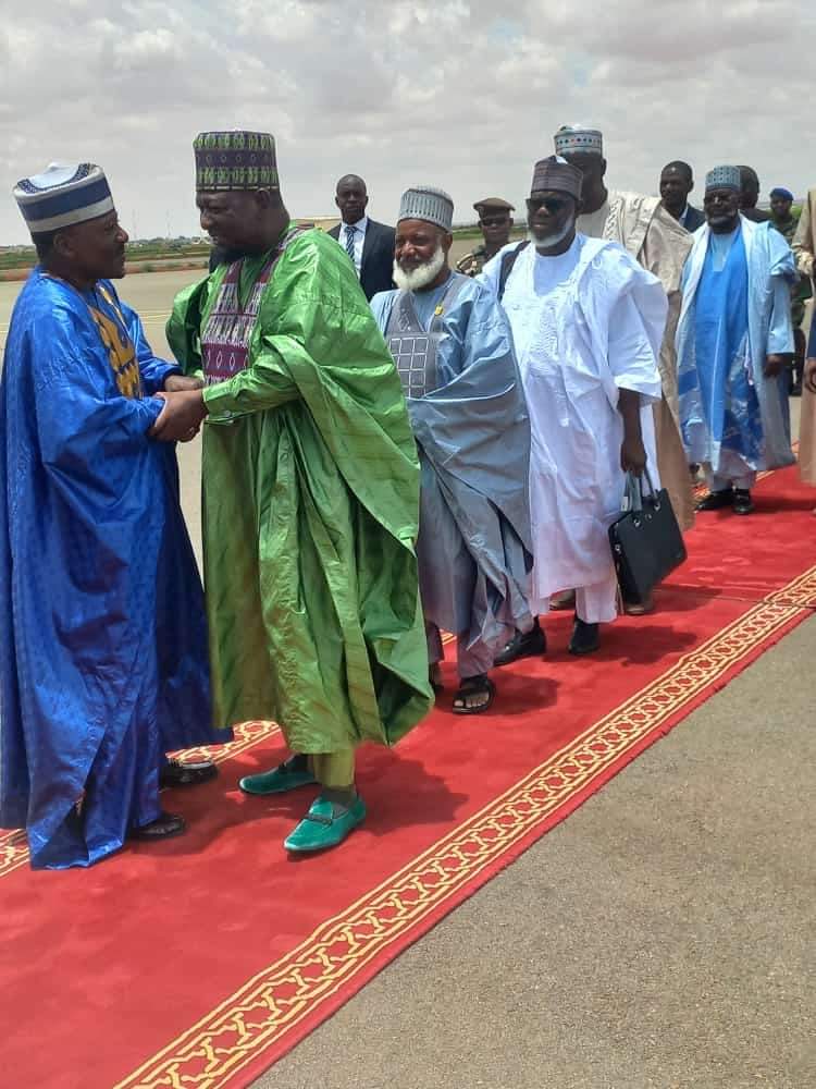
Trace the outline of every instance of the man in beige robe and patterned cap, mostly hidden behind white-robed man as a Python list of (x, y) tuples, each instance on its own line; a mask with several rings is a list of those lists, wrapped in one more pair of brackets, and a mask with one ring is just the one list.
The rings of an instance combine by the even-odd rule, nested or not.
[(680, 438), (675, 331), (680, 316), (680, 277), (692, 237), (659, 197), (606, 188), (603, 135), (596, 129), (561, 126), (555, 134), (555, 150), (583, 173), (579, 232), (591, 238), (619, 242), (644, 269), (657, 277), (668, 296), (668, 320), (657, 360), (663, 397), (653, 409), (655, 441), (660, 479), (668, 490), (678, 525), (683, 530), (690, 529), (694, 524), (694, 502)]

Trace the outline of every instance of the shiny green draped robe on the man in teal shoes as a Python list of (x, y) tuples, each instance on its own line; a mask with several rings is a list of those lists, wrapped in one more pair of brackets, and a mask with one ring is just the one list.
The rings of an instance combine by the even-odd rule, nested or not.
[[(187, 372), (226, 271), (176, 299), (168, 340)], [(205, 399), (217, 721), (275, 719), (300, 752), (395, 743), (431, 703), (419, 465), (394, 362), (334, 240), (286, 247), (248, 366)]]

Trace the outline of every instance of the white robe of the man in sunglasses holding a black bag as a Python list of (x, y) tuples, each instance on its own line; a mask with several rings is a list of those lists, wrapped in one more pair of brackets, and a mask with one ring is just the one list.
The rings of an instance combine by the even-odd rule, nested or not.
[[(500, 254), (485, 266), (487, 284), (499, 268)], [(503, 306), (532, 428), (533, 604), (546, 610), (557, 590), (614, 583), (608, 527), (625, 490), (622, 389), (641, 396), (658, 485), (652, 405), (662, 395), (656, 360), (666, 294), (617, 243), (577, 235), (558, 258), (539, 257), (533, 247), (520, 254)]]

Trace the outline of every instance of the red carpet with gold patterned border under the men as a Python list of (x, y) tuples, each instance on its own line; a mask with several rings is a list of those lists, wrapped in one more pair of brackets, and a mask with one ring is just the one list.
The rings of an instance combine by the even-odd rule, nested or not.
[[(37, 1089), (249, 1085), (403, 949), (562, 820), (816, 607), (812, 489), (795, 470), (750, 518), (708, 514), (657, 611), (592, 660), (551, 651), (497, 675), (494, 710), (440, 708), (395, 751), (360, 755), (370, 817), (323, 857), (282, 841), (311, 795), (245, 798), (281, 758), (244, 727), (219, 781), (168, 796), (190, 832), (88, 871), (33, 873), (0, 835), (5, 1084)], [(9, 1075), (7, 1075), (8, 1077)]]

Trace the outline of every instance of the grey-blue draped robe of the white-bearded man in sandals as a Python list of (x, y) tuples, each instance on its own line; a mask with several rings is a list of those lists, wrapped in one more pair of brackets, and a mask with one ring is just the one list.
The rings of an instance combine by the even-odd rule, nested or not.
[[(382, 331), (398, 295), (371, 302)], [(436, 374), (435, 390), (408, 401), (422, 464), (424, 615), (471, 649), (498, 650), (532, 623), (530, 421), (507, 319), (482, 283), (462, 284), (442, 317)]]

